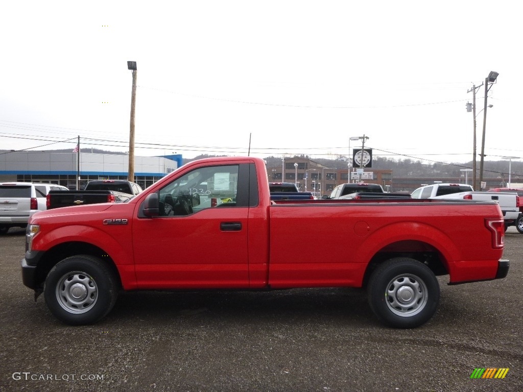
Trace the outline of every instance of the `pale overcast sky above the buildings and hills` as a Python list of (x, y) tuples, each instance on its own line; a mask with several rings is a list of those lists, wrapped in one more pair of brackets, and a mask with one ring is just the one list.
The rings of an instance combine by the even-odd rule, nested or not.
[[(128, 151), (132, 60), (136, 155), (247, 155), (250, 140), (254, 156), (334, 158), (366, 135), (374, 155), (467, 162), (467, 91), (497, 71), (486, 159), (523, 157), (519, 2), (0, 7), (0, 149), (72, 149), (79, 135), (82, 148)], [(476, 119), (479, 154), (483, 112)]]

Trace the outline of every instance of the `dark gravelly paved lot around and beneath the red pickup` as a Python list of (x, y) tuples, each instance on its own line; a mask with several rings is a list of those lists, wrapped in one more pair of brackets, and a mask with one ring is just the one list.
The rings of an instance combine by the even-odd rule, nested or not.
[[(24, 232), (0, 236), (1, 391), (510, 391), (523, 389), (523, 235), (506, 279), (447, 286), (414, 330), (382, 327), (354, 289), (122, 294), (69, 327), (21, 283)], [(509, 368), (471, 379), (474, 368)]]

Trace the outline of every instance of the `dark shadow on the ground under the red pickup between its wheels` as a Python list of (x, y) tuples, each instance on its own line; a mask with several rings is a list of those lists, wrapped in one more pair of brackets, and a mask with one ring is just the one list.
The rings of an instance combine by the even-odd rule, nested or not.
[(228, 320), (234, 323), (307, 322), (378, 324), (361, 289), (281, 291), (140, 291), (120, 294), (106, 322), (184, 324)]

